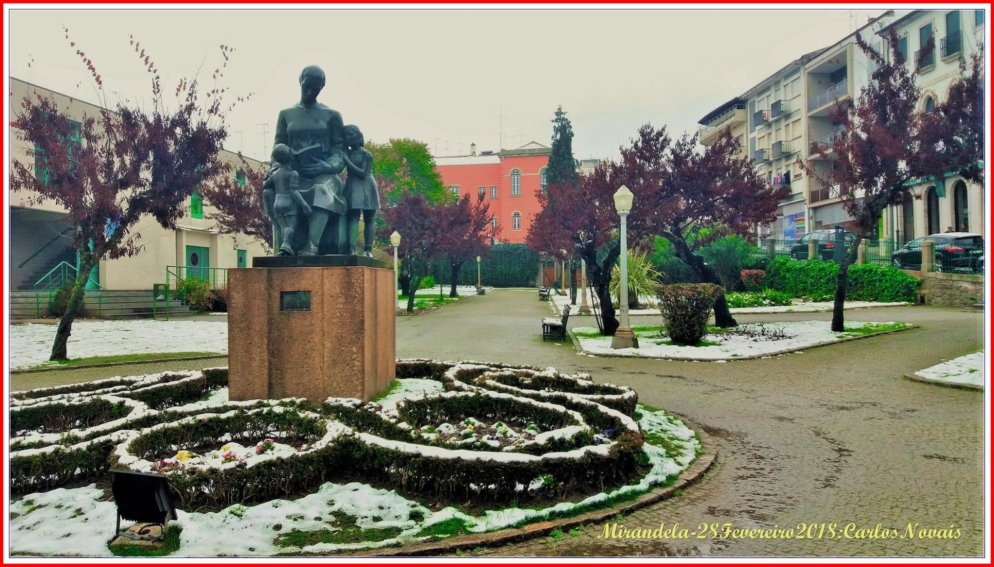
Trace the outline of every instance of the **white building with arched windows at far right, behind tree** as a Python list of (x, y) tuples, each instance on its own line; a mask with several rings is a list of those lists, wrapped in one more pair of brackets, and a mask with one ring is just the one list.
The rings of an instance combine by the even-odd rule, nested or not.
[[(945, 100), (959, 77), (961, 59), (970, 61), (984, 43), (984, 10), (913, 10), (877, 32), (888, 61), (897, 54), (889, 38), (898, 38), (897, 51), (914, 72), (921, 90), (918, 108), (930, 112)], [(932, 48), (926, 49), (931, 43)], [(904, 203), (890, 207), (881, 237), (906, 242), (936, 232), (982, 233), (984, 188), (956, 175), (916, 184)]]

